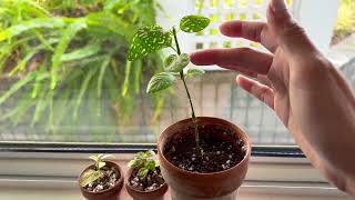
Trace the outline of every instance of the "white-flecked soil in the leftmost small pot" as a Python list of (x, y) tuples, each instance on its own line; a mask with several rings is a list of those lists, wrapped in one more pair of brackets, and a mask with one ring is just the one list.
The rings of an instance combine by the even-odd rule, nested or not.
[(102, 169), (103, 177), (95, 180), (94, 182), (89, 183), (85, 189), (91, 192), (100, 192), (113, 188), (116, 182), (120, 180), (120, 171), (113, 167), (103, 167)]

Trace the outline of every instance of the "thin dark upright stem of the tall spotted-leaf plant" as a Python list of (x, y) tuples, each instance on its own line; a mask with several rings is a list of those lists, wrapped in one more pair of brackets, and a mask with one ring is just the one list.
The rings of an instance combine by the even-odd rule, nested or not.
[[(178, 41), (178, 37), (176, 37), (176, 30), (175, 30), (174, 27), (173, 27), (173, 34), (174, 34), (174, 40), (175, 40), (175, 44), (176, 44), (176, 51), (178, 51), (178, 54), (180, 56), (181, 54), (181, 50), (180, 50), (180, 46), (179, 46), (179, 41)], [(197, 152), (197, 154), (201, 154), (202, 153), (202, 149), (200, 147), (199, 124), (197, 124), (197, 121), (196, 121), (195, 110), (193, 109), (191, 94), (190, 94), (190, 91), (187, 89), (187, 84), (186, 84), (186, 81), (185, 81), (185, 77), (184, 77), (183, 70), (180, 71), (180, 78), (181, 78), (182, 82), (184, 83), (184, 88), (186, 90), (189, 102), (190, 102), (190, 107), (191, 107), (191, 119), (192, 119), (192, 122), (193, 122), (193, 124), (195, 127), (196, 152)]]

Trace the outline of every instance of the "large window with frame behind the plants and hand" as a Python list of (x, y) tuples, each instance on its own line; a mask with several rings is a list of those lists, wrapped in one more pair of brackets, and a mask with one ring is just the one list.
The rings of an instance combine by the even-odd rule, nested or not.
[[(42, 187), (73, 189), (89, 153), (119, 153), (125, 166), (131, 153), (155, 148), (164, 128), (190, 117), (182, 84), (158, 96), (145, 93), (151, 76), (162, 70), (161, 53), (125, 61), (136, 29), (155, 20), (170, 27), (201, 11), (212, 23), (195, 36), (183, 36), (183, 51), (265, 51), (255, 42), (222, 37), (219, 24), (265, 21), (266, 4), (267, 0), (0, 0), (0, 186), (11, 188), (6, 194), (20, 193), (12, 188), (19, 184), (36, 183), (44, 196)], [(355, 1), (287, 4), (355, 88)], [(315, 191), (343, 197), (304, 159), (274, 112), (235, 84), (236, 72), (205, 69), (206, 74), (187, 81), (197, 116), (241, 126), (254, 144), (242, 192), (256, 188), (255, 193), (268, 189), (287, 196)]]

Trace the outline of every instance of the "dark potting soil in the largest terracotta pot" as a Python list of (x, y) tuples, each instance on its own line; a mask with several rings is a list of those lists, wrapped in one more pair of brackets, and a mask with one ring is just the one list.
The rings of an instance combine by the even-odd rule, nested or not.
[(174, 166), (191, 172), (210, 173), (227, 170), (240, 163), (246, 152), (243, 140), (233, 130), (216, 124), (199, 126), (200, 146), (196, 153), (194, 128), (180, 130), (164, 147), (165, 158)]

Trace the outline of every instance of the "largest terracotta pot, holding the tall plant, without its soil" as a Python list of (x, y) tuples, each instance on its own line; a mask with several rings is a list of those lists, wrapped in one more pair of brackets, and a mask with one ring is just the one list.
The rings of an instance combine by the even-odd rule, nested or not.
[[(242, 129), (233, 123), (217, 119), (200, 117), (197, 118), (199, 126), (216, 124), (234, 130), (239, 138), (241, 138), (247, 150), (244, 159), (233, 168), (220, 172), (212, 173), (194, 173), (182, 170), (170, 163), (163, 154), (164, 146), (168, 141), (179, 138), (183, 131), (189, 127), (193, 128), (191, 119), (179, 121), (166, 128), (160, 136), (158, 142), (158, 154), (161, 170), (166, 183), (170, 187), (173, 200), (234, 200), (236, 191), (244, 181), (248, 160), (251, 157), (251, 144), (248, 138)], [(193, 133), (193, 131), (191, 131)], [(201, 136), (203, 132), (200, 133)], [(223, 138), (222, 133), (221, 137)]]

